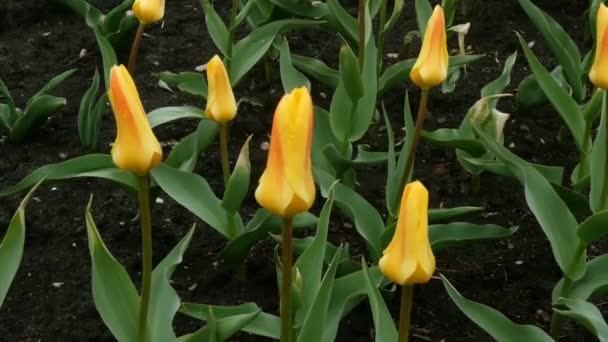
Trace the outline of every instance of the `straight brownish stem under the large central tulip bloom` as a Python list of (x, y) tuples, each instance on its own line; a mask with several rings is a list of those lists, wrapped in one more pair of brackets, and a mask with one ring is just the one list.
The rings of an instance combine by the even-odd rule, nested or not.
[(291, 268), (293, 263), (292, 235), (292, 218), (284, 218), (281, 246), (281, 342), (291, 341)]

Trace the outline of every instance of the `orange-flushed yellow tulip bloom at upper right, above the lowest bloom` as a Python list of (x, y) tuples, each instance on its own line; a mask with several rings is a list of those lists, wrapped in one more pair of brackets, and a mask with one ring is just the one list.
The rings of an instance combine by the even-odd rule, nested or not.
[(443, 9), (437, 5), (426, 24), (420, 54), (410, 78), (424, 90), (440, 85), (448, 75), (448, 58), (445, 18)]

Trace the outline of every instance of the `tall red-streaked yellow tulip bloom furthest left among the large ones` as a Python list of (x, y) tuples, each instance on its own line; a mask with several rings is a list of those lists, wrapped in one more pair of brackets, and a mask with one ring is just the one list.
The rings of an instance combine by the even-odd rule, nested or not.
[(145, 175), (160, 163), (163, 150), (152, 132), (135, 83), (124, 65), (112, 67), (108, 97), (117, 126), (112, 160), (123, 170)]

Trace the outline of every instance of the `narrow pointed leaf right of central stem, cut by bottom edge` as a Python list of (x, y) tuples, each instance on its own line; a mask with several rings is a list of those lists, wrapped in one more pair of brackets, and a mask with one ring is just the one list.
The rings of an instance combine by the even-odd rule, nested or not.
[(335, 284), (336, 270), (338, 269), (338, 262), (342, 255), (342, 246), (338, 247), (334, 259), (319, 286), (319, 290), (316, 292), (313, 302), (310, 305), (310, 309), (306, 313), (300, 334), (298, 335), (298, 342), (308, 341), (320, 341), (323, 338), (325, 332), (325, 325), (327, 324), (326, 318), (330, 308), (332, 300), (332, 292)]

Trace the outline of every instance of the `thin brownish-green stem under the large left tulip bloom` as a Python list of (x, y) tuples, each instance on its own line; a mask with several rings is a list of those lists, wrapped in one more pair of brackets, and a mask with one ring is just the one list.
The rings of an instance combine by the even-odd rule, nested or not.
[(141, 300), (139, 305), (138, 341), (146, 341), (146, 325), (148, 323), (148, 305), (150, 303), (150, 287), (152, 280), (152, 224), (150, 218), (150, 194), (148, 175), (139, 176), (139, 213), (141, 222), (142, 243), (142, 273)]

